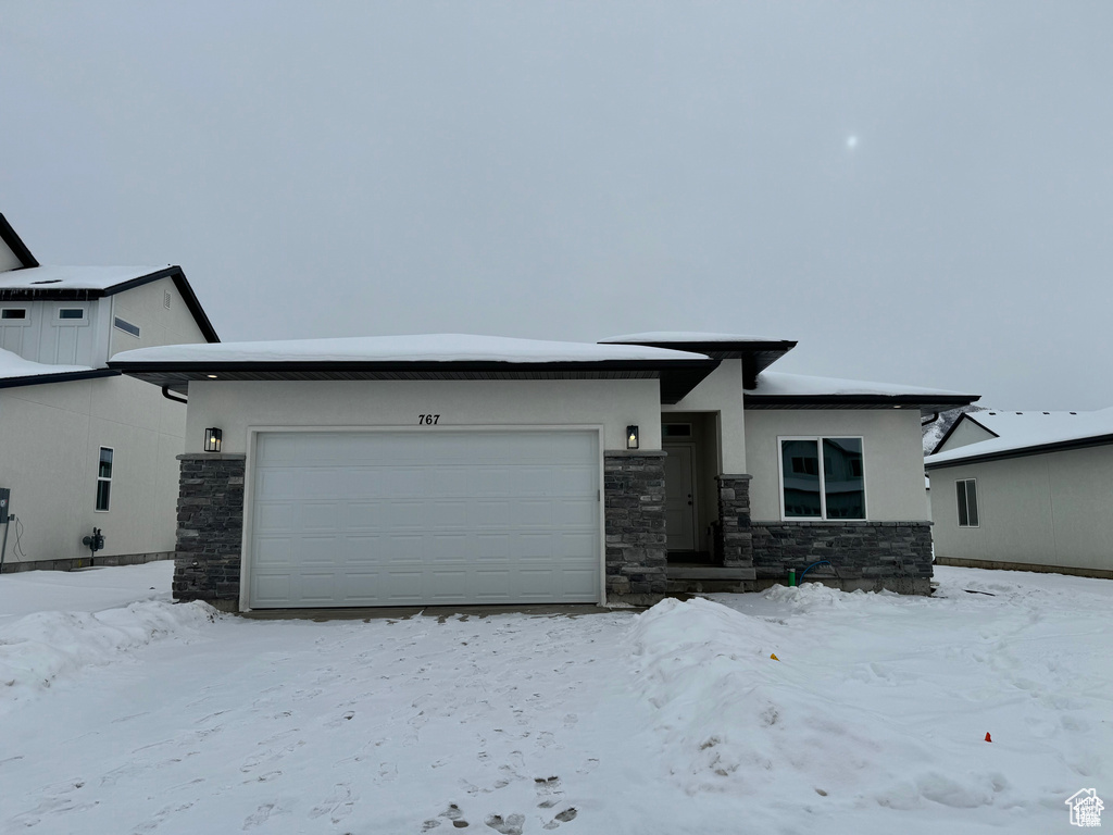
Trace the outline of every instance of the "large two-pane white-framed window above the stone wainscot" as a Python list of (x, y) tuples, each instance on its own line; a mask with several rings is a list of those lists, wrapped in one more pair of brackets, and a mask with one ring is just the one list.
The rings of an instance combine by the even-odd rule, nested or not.
[(782, 519), (866, 519), (860, 436), (778, 438)]

